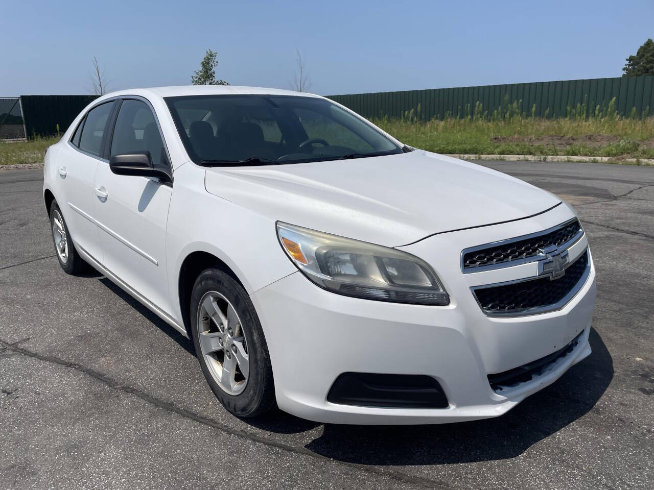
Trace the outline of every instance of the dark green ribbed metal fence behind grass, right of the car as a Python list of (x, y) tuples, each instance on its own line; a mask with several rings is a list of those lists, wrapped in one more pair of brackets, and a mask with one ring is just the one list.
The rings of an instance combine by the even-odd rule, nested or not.
[(654, 76), (559, 80), (530, 84), (407, 90), (328, 95), (366, 118), (401, 118), (413, 110), (419, 119), (492, 118), (507, 112), (556, 118), (568, 115), (619, 114), (643, 117), (654, 113)]

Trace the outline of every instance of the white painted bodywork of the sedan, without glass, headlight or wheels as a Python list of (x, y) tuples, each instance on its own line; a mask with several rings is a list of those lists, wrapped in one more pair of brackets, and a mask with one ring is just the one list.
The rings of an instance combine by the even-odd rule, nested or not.
[[(460, 264), (465, 248), (538, 233), (574, 218), (567, 204), (506, 174), (422, 150), (356, 161), (200, 167), (186, 153), (163, 97), (217, 93), (296, 94), (205, 86), (105, 95), (48, 150), (44, 191), (59, 203), (84, 259), (186, 336), (179, 299), (184, 259), (205, 252), (226, 263), (260, 317), (280, 408), (333, 423), (498, 416), (589, 355), (592, 260), (585, 283), (562, 308), (513, 318), (486, 316), (470, 288), (536, 276), (536, 262), (471, 274)], [(69, 143), (91, 106), (124, 96), (143, 97), (154, 109), (174, 172), (172, 186), (112, 174), (107, 161)], [(320, 289), (283, 252), (277, 221), (417, 255), (436, 271), (451, 302), (398, 304)], [(584, 235), (570, 247), (570, 261), (585, 250)], [(488, 374), (549, 355), (579, 333), (572, 354), (542, 376), (502, 393), (490, 388)], [(336, 377), (349, 371), (432, 376), (449, 407), (328, 402)]]

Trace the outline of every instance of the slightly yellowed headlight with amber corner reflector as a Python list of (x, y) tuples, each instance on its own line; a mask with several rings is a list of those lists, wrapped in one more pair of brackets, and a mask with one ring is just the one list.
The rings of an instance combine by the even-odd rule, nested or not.
[(413, 304), (449, 304), (436, 272), (394, 248), (277, 223), (291, 261), (320, 287), (346, 296)]

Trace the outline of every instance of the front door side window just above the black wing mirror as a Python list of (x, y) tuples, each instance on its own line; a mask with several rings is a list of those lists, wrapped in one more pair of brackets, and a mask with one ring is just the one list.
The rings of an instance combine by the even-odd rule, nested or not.
[(152, 165), (167, 167), (162, 137), (150, 106), (142, 101), (123, 101), (111, 140), (111, 156), (145, 151), (150, 152)]

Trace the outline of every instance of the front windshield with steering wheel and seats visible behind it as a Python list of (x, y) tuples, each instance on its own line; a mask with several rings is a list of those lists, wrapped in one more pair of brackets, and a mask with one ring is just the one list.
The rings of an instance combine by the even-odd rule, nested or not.
[(199, 165), (276, 165), (402, 153), (334, 103), (289, 95), (165, 99), (186, 152)]

